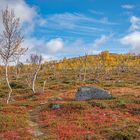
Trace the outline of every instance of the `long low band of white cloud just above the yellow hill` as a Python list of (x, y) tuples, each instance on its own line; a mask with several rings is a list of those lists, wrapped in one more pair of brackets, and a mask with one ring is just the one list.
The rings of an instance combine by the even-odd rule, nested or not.
[(81, 56), (85, 53), (98, 54), (102, 51), (98, 46), (105, 44), (109, 38), (110, 36), (102, 35), (94, 42), (84, 42), (81, 39), (69, 41), (53, 38), (46, 41), (45, 39), (30, 38), (24, 42), (24, 45), (29, 47), (27, 56), (31, 53), (39, 53), (45, 60), (58, 60), (63, 57)]

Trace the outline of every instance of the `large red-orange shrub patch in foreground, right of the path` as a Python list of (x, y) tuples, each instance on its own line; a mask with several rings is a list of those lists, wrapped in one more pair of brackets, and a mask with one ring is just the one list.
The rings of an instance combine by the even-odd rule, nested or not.
[(94, 139), (96, 130), (111, 127), (114, 123), (129, 119), (129, 114), (118, 110), (101, 109), (99, 107), (77, 109), (65, 105), (57, 110), (48, 110), (40, 113), (41, 124), (47, 126), (57, 139)]

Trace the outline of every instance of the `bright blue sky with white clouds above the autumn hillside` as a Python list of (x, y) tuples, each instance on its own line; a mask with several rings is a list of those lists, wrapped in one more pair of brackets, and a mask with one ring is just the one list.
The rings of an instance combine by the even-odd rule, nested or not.
[(0, 0), (6, 6), (20, 17), (27, 55), (140, 53), (140, 0)]

